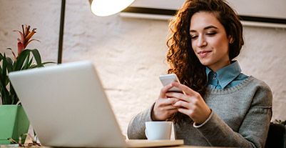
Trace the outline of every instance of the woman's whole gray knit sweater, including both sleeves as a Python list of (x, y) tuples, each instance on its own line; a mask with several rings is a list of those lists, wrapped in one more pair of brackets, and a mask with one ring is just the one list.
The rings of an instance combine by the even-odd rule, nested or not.
[[(272, 92), (264, 82), (248, 77), (228, 89), (208, 88), (204, 97), (212, 113), (195, 126), (175, 124), (175, 138), (185, 144), (215, 147), (264, 147), (272, 117)], [(145, 122), (151, 121), (153, 106), (134, 117), (129, 139), (146, 139)]]

